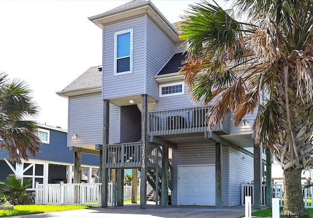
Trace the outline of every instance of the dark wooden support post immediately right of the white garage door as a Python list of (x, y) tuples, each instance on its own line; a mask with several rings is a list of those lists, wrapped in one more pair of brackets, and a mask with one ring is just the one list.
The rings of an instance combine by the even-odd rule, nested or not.
[(215, 208), (223, 207), (222, 144), (215, 143)]

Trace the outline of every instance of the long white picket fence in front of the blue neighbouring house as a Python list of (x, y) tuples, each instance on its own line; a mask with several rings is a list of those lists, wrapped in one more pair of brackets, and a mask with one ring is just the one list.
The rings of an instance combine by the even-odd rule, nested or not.
[[(101, 205), (102, 183), (39, 184), (35, 204)], [(112, 206), (113, 183), (108, 183), (108, 206)]]

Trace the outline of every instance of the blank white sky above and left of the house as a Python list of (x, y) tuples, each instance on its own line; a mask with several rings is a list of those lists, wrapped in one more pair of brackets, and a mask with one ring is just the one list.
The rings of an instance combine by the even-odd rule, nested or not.
[[(129, 1), (0, 0), (0, 72), (28, 83), (38, 122), (67, 129), (67, 99), (55, 93), (101, 65), (102, 30), (88, 17)], [(152, 0), (171, 23), (195, 1)]]

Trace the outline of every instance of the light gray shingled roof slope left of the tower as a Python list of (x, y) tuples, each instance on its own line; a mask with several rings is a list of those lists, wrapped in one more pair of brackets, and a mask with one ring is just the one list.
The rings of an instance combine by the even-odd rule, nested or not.
[[(102, 86), (102, 74), (101, 70), (102, 66), (90, 67), (85, 73), (80, 75), (77, 79), (72, 81), (67, 87), (65, 87), (60, 94), (70, 92), (70, 91), (78, 91), (84, 89), (98, 88)], [(57, 93), (57, 94), (59, 94)]]

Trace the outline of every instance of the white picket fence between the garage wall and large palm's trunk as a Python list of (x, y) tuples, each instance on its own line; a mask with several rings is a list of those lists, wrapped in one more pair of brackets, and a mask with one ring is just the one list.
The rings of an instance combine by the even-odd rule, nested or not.
[[(251, 196), (252, 205), (254, 202), (254, 185), (253, 184), (241, 184), (241, 205), (245, 205), (245, 197)], [(272, 184), (272, 196), (271, 198), (280, 198), (279, 204), (283, 206), (283, 191), (281, 184)], [(261, 206), (266, 206), (266, 184), (262, 184)]]

